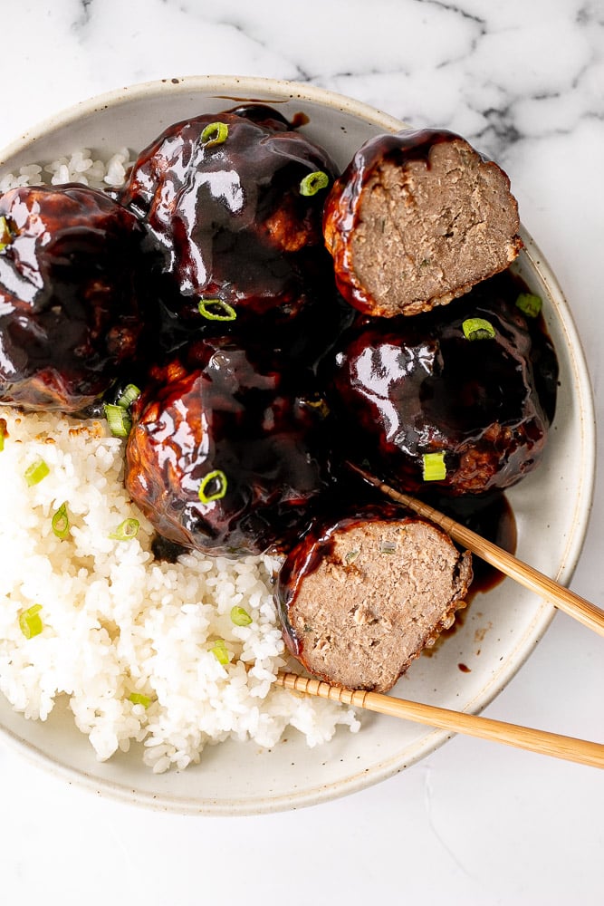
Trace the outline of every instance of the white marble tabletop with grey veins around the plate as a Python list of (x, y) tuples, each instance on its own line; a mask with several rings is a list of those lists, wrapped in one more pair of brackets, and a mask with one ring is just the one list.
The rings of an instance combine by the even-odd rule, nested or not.
[[(464, 133), (507, 169), (554, 266), (600, 418), (600, 0), (21, 0), (2, 13), (0, 146), (92, 94), (205, 72), (312, 82)], [(603, 527), (599, 478), (572, 583), (598, 602)], [(603, 691), (604, 640), (558, 615), (486, 713), (604, 741)], [(0, 740), (0, 802), (6, 903), (602, 901), (602, 775), (461, 737), (347, 799), (232, 819), (102, 800)]]

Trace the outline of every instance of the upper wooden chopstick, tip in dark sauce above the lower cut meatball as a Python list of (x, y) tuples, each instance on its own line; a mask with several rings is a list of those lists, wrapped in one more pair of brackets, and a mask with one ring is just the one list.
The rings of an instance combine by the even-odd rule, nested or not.
[(398, 501), (403, 506), (407, 506), (407, 509), (413, 510), (418, 516), (424, 516), (424, 518), (436, 523), (436, 525), (440, 525), (458, 544), (464, 545), (473, 554), (478, 554), (488, 564), (509, 575), (510, 578), (515, 579), (517, 583), (520, 583), (525, 588), (546, 598), (559, 610), (568, 613), (569, 616), (583, 623), (588, 629), (599, 632), (599, 635), (604, 635), (604, 611), (597, 607), (596, 604), (592, 604), (590, 601), (586, 601), (585, 598), (581, 598), (579, 594), (571, 592), (569, 588), (565, 588), (560, 583), (555, 582), (554, 579), (550, 579), (549, 576), (540, 573), (533, 566), (523, 563), (522, 560), (519, 560), (513, 554), (508, 554), (503, 548), (494, 545), (492, 541), (487, 541), (482, 535), (476, 535), (471, 529), (455, 522), (455, 519), (450, 516), (440, 513), (433, 506), (428, 506), (423, 501), (417, 500), (416, 497), (403, 494), (395, 490), (394, 487), (389, 487), (389, 485), (380, 481), (379, 478), (370, 475), (369, 472), (359, 466), (355, 466), (351, 462), (347, 465), (365, 478), (366, 481), (369, 481), (369, 484), (378, 487), (382, 494)]

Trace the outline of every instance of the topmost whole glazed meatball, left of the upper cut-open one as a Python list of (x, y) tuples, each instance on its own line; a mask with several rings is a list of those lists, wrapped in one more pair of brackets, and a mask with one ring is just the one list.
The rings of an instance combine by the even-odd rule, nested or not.
[(321, 286), (333, 165), (264, 105), (178, 122), (145, 149), (121, 200), (163, 254), (168, 309), (197, 328), (272, 312)]

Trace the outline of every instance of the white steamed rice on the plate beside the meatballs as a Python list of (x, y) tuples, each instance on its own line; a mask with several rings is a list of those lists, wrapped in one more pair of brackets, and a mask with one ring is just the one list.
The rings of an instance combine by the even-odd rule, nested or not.
[[(107, 163), (82, 149), (7, 174), (0, 192), (74, 180), (118, 186), (128, 166), (127, 149)], [(206, 743), (230, 737), (273, 747), (291, 726), (315, 746), (339, 724), (359, 729), (353, 709), (274, 685), (287, 666), (273, 603), (276, 560), (155, 560), (152, 528), (123, 487), (123, 441), (104, 420), (9, 408), (0, 417), (0, 692), (16, 710), (44, 720), (67, 697), (100, 760), (137, 741), (157, 773), (198, 762)], [(38, 459), (48, 474), (28, 487), (24, 473)], [(61, 539), (52, 519), (63, 503), (70, 531)], [(139, 520), (138, 535), (111, 539), (127, 518)], [(36, 604), (43, 631), (27, 639), (19, 617)], [(232, 621), (234, 606), (252, 617), (248, 626)], [(212, 652), (217, 640), (225, 641), (225, 665)], [(137, 694), (143, 704), (130, 699)]]

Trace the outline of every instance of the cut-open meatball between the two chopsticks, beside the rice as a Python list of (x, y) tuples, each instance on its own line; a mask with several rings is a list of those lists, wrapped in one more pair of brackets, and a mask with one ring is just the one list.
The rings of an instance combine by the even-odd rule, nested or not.
[(283, 564), (283, 638), (312, 674), (390, 689), (465, 606), (471, 554), (395, 506), (315, 525)]

